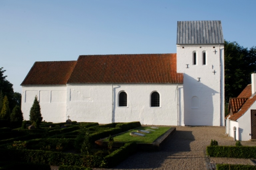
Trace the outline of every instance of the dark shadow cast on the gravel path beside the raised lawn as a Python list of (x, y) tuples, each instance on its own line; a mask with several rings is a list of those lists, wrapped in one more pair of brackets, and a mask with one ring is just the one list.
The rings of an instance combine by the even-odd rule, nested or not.
[(179, 152), (190, 151), (190, 143), (194, 141), (192, 131), (176, 131), (162, 150), (156, 152), (138, 152), (113, 169), (147, 169), (159, 168), (168, 156)]

